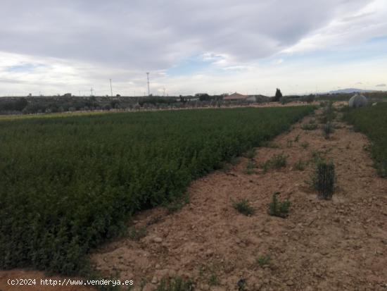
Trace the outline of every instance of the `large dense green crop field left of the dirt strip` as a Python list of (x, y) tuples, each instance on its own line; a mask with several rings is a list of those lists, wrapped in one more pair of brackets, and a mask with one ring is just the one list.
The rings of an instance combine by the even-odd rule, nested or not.
[(1, 119), (0, 268), (79, 272), (85, 255), (125, 229), (133, 213), (182, 197), (192, 180), (312, 110)]

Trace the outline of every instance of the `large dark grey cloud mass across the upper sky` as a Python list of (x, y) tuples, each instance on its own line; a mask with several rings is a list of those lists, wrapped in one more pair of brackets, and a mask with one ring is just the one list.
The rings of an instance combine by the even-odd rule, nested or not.
[(3, 0), (0, 51), (160, 70), (213, 51), (252, 61), (364, 0)]

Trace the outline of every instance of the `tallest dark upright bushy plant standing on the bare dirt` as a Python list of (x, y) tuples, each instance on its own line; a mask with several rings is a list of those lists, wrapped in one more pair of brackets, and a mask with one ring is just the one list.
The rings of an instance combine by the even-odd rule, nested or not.
[(331, 199), (334, 194), (335, 166), (332, 162), (319, 161), (316, 166), (315, 187), (322, 199)]

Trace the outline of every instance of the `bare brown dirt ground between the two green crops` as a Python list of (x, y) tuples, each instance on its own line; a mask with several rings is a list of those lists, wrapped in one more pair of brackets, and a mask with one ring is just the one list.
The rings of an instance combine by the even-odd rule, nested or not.
[[(326, 140), (321, 129), (300, 128), (312, 118), (257, 149), (257, 165), (284, 153), (286, 168), (267, 173), (255, 168), (248, 175), (248, 159), (241, 158), (236, 166), (196, 180), (181, 210), (159, 207), (135, 216), (129, 226), (146, 227), (146, 236), (101, 247), (91, 256), (96, 269), (134, 280), (134, 290), (144, 281), (144, 291), (175, 275), (193, 279), (196, 290), (238, 290), (241, 278), (245, 290), (253, 291), (387, 290), (387, 180), (372, 168), (364, 135), (336, 120), (338, 128)], [(313, 171), (313, 151), (336, 165), (331, 201), (317, 199), (305, 182)], [(310, 161), (305, 171), (296, 170), (299, 159)], [(274, 192), (290, 199), (288, 218), (267, 214)], [(255, 214), (238, 213), (232, 206), (237, 199), (248, 199)], [(271, 260), (261, 267), (263, 255)], [(0, 290), (89, 290), (7, 287), (5, 278), (18, 278), (18, 272), (0, 271)], [(25, 272), (24, 278), (31, 274), (45, 278), (37, 272)]]

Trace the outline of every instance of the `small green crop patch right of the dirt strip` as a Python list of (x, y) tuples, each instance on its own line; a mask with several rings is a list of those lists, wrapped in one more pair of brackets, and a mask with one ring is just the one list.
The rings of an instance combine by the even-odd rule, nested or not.
[(345, 119), (371, 140), (371, 154), (381, 177), (387, 177), (387, 104), (348, 111)]

